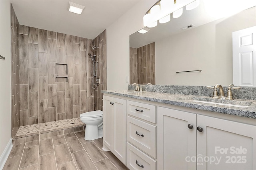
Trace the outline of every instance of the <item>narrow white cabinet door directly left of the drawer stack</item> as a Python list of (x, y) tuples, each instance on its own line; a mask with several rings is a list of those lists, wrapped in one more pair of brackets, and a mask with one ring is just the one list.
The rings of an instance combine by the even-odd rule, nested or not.
[(113, 98), (114, 101), (114, 148), (113, 154), (126, 164), (126, 100)]

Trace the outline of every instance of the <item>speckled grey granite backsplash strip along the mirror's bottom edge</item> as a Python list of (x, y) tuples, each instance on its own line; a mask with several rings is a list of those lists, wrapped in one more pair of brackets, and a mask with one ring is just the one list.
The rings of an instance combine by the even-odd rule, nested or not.
[[(128, 90), (135, 90), (135, 88), (136, 86), (128, 84)], [(226, 96), (228, 92), (228, 86), (223, 86), (223, 90)], [(185, 85), (142, 85), (142, 91), (208, 97), (211, 97), (213, 94), (213, 89), (209, 89), (207, 86)], [(256, 100), (256, 87), (241, 87), (240, 89), (232, 89), (231, 91), (234, 99)]]

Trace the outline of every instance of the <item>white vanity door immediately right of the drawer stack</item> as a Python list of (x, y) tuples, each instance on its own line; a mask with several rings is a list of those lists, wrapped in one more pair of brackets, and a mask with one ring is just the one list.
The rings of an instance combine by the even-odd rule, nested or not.
[(158, 170), (196, 170), (196, 114), (158, 107), (157, 121)]

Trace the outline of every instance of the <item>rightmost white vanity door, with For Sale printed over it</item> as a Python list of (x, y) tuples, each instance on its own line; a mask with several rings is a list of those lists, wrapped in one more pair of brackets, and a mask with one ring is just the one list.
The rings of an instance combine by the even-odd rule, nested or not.
[(203, 115), (197, 126), (198, 170), (256, 170), (256, 126)]

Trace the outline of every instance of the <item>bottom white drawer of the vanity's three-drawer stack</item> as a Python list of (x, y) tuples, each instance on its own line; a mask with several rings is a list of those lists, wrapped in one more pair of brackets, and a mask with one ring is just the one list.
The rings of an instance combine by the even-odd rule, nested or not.
[(156, 170), (156, 160), (127, 143), (127, 167), (130, 170)]

